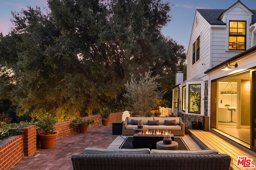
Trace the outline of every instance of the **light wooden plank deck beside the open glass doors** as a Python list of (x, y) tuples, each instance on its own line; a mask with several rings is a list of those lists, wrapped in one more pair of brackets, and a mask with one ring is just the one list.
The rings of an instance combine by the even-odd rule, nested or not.
[[(252, 165), (256, 166), (256, 153), (247, 149), (246, 147), (240, 146), (239, 144), (232, 143), (219, 135), (215, 134), (214, 131), (202, 131), (202, 130), (189, 130), (190, 136), (202, 146), (202, 148), (209, 147), (217, 150), (219, 153), (226, 153), (232, 157), (234, 170), (245, 170), (242, 166), (236, 166), (238, 156), (247, 156), (252, 159)], [(252, 170), (256, 168), (248, 168)]]

